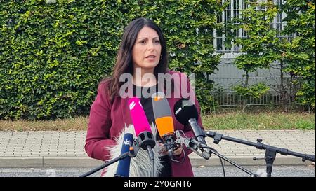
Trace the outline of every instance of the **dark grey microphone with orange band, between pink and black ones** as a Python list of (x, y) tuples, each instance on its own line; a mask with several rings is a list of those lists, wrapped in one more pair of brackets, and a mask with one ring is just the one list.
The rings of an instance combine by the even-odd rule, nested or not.
[(168, 155), (172, 159), (172, 150), (175, 146), (175, 134), (171, 109), (166, 97), (164, 96), (164, 92), (152, 94), (152, 108), (154, 111), (154, 121), (156, 122), (159, 135), (162, 137), (162, 140), (164, 140), (164, 146), (166, 146)]

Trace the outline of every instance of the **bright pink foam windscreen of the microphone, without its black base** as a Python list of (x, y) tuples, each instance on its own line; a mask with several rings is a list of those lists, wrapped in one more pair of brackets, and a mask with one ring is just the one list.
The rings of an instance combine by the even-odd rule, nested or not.
[(141, 132), (152, 132), (146, 118), (145, 111), (143, 110), (143, 106), (140, 104), (140, 99), (138, 97), (132, 97), (129, 99), (129, 110), (131, 112), (136, 136), (138, 136)]

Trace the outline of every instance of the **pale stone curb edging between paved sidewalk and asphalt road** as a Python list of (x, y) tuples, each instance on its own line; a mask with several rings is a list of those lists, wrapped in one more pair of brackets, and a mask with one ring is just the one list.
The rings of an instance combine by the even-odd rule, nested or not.
[[(241, 166), (265, 166), (265, 160), (253, 160), (251, 156), (225, 156), (236, 164)], [(258, 156), (263, 157), (263, 156)], [(190, 157), (192, 167), (201, 166), (220, 166), (220, 160), (217, 156), (212, 155), (209, 160), (200, 157)], [(229, 162), (222, 160), (225, 166), (231, 166)], [(36, 167), (98, 167), (104, 164), (100, 160), (91, 157), (0, 157), (0, 168), (36, 168)], [(301, 158), (277, 155), (273, 165), (308, 165), (310, 161), (303, 162)]]

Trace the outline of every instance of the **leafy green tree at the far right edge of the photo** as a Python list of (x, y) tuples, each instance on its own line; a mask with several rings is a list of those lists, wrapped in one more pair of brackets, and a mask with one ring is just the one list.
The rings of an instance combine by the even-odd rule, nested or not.
[(315, 1), (287, 0), (281, 8), (287, 14), (283, 33), (295, 34), (284, 52), (284, 71), (300, 77), (296, 82), (301, 83), (296, 100), (310, 111), (315, 109)]

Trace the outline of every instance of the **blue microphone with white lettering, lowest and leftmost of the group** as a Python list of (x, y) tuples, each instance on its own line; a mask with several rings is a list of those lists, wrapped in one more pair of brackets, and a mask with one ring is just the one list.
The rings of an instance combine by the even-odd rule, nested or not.
[[(129, 152), (130, 148), (133, 146), (133, 134), (126, 133), (124, 134), (123, 144), (121, 146), (121, 154)], [(114, 174), (114, 177), (129, 177), (129, 166), (131, 164), (131, 157), (125, 157), (122, 160), (119, 160), (117, 166), (117, 172)]]

